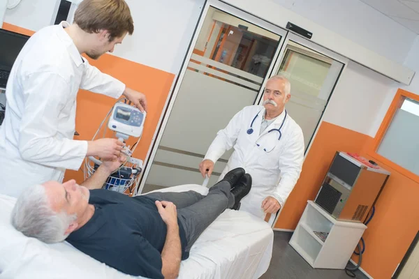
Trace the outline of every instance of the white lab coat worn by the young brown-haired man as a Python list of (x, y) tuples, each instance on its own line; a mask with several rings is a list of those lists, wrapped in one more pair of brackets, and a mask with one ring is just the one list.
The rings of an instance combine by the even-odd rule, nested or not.
[(125, 90), (82, 59), (66, 25), (35, 33), (11, 70), (0, 128), (0, 194), (17, 197), (31, 185), (61, 182), (65, 169), (78, 170), (87, 154), (87, 142), (73, 140), (79, 88), (113, 98)]

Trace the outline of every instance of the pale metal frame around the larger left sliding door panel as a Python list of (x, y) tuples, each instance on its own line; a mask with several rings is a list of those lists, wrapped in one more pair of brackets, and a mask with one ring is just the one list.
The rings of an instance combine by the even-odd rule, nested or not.
[(196, 42), (200, 35), (200, 31), (203, 27), (205, 17), (207, 16), (207, 13), (210, 7), (217, 8), (219, 10), (222, 10), (224, 13), (228, 13), (235, 17), (239, 17), (242, 20), (245, 20), (251, 24), (257, 25), (258, 27), (262, 29), (266, 29), (267, 31), (270, 31), (280, 36), (280, 40), (277, 46), (277, 51), (275, 52), (273, 56), (272, 62), (270, 63), (270, 67), (267, 70), (267, 74), (264, 77), (263, 83), (260, 85), (260, 91), (258, 92), (255, 100), (253, 101), (253, 104), (256, 104), (258, 100), (258, 96), (260, 96), (260, 93), (263, 92), (263, 88), (265, 87), (267, 78), (270, 76), (270, 73), (272, 73), (272, 69), (274, 68), (274, 65), (275, 65), (273, 61), (277, 60), (279, 54), (281, 53), (282, 48), (284, 47), (285, 38), (288, 34), (288, 31), (286, 29), (277, 27), (276, 25), (271, 24), (270, 22), (266, 22), (265, 20), (262, 20), (259, 17), (255, 17), (254, 15), (244, 12), (243, 10), (239, 10), (233, 6), (230, 6), (230, 4), (228, 3), (224, 3), (219, 0), (205, 0), (198, 23), (196, 24), (196, 28), (193, 31), (191, 42), (189, 43), (189, 46), (188, 46), (188, 52), (186, 52), (186, 55), (184, 56), (184, 60), (182, 61), (182, 67), (179, 70), (179, 74), (177, 75), (175, 82), (172, 84), (172, 88), (170, 89), (170, 94), (166, 100), (165, 106), (163, 107), (163, 113), (161, 114), (161, 118), (159, 119), (158, 127), (156, 129), (156, 132), (154, 133), (152, 144), (150, 145), (149, 151), (147, 152), (147, 157), (143, 165), (142, 176), (140, 177), (140, 184), (138, 188), (134, 190), (134, 195), (138, 195), (139, 193), (142, 193), (142, 190), (145, 186), (145, 181), (147, 180), (147, 177), (152, 167), (152, 163), (154, 161), (154, 158), (156, 157), (157, 149), (159, 148), (159, 144), (161, 142), (161, 138), (163, 137), (163, 133), (168, 123), (170, 113), (172, 112), (172, 108), (175, 105), (175, 100), (177, 98), (177, 94), (179, 93), (180, 86), (182, 85), (184, 75), (188, 68), (189, 60), (191, 59), (191, 56), (193, 54), (193, 49), (196, 45)]

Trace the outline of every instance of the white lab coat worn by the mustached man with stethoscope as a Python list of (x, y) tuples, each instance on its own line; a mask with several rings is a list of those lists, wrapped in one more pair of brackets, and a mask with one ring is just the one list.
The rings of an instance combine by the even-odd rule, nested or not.
[[(247, 130), (251, 121), (253, 133)], [(285, 111), (280, 114), (270, 126), (260, 134), (260, 125), (265, 108), (259, 105), (244, 107), (235, 114), (226, 128), (217, 133), (215, 140), (205, 155), (205, 159), (214, 163), (224, 152), (234, 148), (233, 155), (228, 160), (220, 179), (236, 167), (243, 167), (252, 177), (250, 193), (242, 199), (240, 210), (263, 218), (261, 209), (263, 199), (272, 196), (284, 206), (288, 195), (293, 190), (300, 177), (304, 158), (304, 138), (300, 126), (288, 114), (281, 128), (282, 137), (278, 140), (278, 131), (267, 133), (272, 128), (278, 129), (284, 120)], [(259, 146), (258, 146), (259, 145)], [(270, 152), (265, 152), (266, 149)]]

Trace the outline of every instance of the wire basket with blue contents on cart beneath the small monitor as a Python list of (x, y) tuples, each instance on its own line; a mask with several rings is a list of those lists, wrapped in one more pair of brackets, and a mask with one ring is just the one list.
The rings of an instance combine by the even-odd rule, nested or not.
[[(84, 163), (84, 179), (89, 179), (101, 163), (100, 160), (94, 157), (87, 157)], [(140, 169), (133, 168), (133, 166), (129, 166), (126, 163), (110, 174), (103, 184), (103, 189), (131, 195), (140, 182), (140, 176), (138, 175), (140, 172)]]

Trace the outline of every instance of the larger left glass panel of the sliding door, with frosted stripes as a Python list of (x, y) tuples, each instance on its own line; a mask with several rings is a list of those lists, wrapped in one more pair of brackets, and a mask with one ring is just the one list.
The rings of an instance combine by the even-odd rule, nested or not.
[[(210, 7), (142, 193), (179, 184), (202, 184), (198, 165), (216, 133), (253, 105), (281, 36)], [(214, 168), (218, 180), (232, 151)]]

